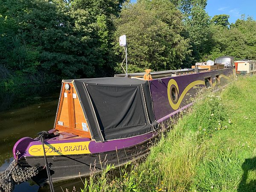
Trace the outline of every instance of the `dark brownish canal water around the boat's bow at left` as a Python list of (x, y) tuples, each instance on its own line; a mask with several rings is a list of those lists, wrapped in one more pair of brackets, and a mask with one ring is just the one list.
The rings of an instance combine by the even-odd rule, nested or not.
[[(12, 148), (22, 137), (37, 137), (40, 131), (53, 128), (60, 86), (34, 86), (2, 89), (0, 92), (0, 172), (13, 160)], [(81, 179), (54, 184), (55, 192), (83, 189)], [(62, 190), (63, 189), (63, 190)], [(14, 192), (49, 192), (32, 180), (15, 186)]]

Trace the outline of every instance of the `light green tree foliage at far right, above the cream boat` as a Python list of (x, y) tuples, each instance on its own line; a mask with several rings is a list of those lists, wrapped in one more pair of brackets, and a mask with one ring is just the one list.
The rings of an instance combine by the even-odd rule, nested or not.
[(208, 58), (231, 55), (237, 60), (256, 60), (256, 21), (251, 17), (236, 20), (230, 29), (212, 26), (212, 31), (214, 44)]

